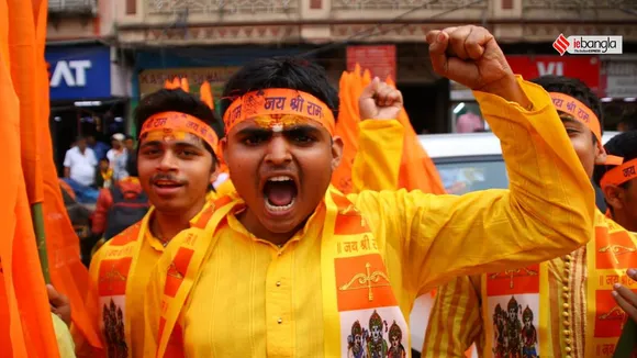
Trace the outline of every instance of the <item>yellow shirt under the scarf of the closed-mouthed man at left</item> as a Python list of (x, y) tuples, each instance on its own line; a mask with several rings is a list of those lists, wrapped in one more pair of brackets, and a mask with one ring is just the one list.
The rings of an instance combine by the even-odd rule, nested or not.
[[(203, 210), (208, 208), (205, 204), (202, 210), (190, 220), (190, 224), (197, 222), (199, 215)], [(139, 248), (139, 256), (137, 257), (137, 265), (135, 270), (130, 272), (128, 280), (131, 280), (131, 287), (136, 288), (135, 290), (126, 292), (126, 309), (128, 310), (125, 314), (131, 315), (131, 343), (132, 347), (128, 347), (132, 357), (143, 357), (144, 354), (144, 288), (148, 284), (149, 273), (152, 269), (159, 260), (161, 253), (164, 253), (164, 244), (158, 238), (154, 237), (148, 227), (142, 227), (144, 231), (144, 242)], [(90, 277), (93, 284), (99, 283), (99, 269), (100, 262), (102, 260), (102, 253), (105, 251), (104, 247), (110, 246), (110, 240), (107, 242), (100, 250), (96, 253), (91, 260)], [(101, 320), (101, 314), (99, 315)], [(103, 333), (102, 333), (103, 334)], [(102, 344), (104, 339), (102, 337)]]

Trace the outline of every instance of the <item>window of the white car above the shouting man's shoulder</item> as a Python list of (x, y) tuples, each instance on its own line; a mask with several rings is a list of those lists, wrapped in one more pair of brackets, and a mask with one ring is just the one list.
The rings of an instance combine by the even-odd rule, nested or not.
[(509, 176), (502, 157), (456, 157), (434, 161), (448, 193), (509, 188)]

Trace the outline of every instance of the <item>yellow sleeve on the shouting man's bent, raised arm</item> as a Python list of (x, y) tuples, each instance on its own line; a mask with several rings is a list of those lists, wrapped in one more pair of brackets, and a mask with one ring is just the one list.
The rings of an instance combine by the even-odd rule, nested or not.
[(545, 261), (593, 236), (593, 188), (551, 99), (539, 86), (522, 79), (519, 86), (532, 110), (476, 92), (501, 141), (510, 190), (348, 195), (369, 217), (379, 245), (401, 258), (411, 290), (424, 293), (457, 276)]

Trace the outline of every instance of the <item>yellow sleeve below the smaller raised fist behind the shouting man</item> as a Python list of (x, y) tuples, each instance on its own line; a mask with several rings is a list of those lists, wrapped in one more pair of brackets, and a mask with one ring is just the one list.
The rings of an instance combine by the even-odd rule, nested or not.
[(358, 152), (351, 167), (354, 192), (398, 189), (403, 125), (396, 120), (367, 120), (358, 128)]

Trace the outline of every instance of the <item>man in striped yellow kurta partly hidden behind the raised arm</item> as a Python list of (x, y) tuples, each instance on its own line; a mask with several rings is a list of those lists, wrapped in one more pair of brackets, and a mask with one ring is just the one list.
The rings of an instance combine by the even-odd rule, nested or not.
[[(601, 103), (584, 83), (556, 76), (534, 82), (552, 98), (563, 124), (555, 130), (568, 134), (579, 158), (572, 167), (592, 177), (595, 165), (617, 163), (601, 145)], [(423, 356), (463, 357), (472, 344), (480, 357), (612, 356), (622, 331), (613, 284), (629, 281), (636, 244), (596, 211), (594, 239), (566, 256), (455, 279), (437, 291)]]

